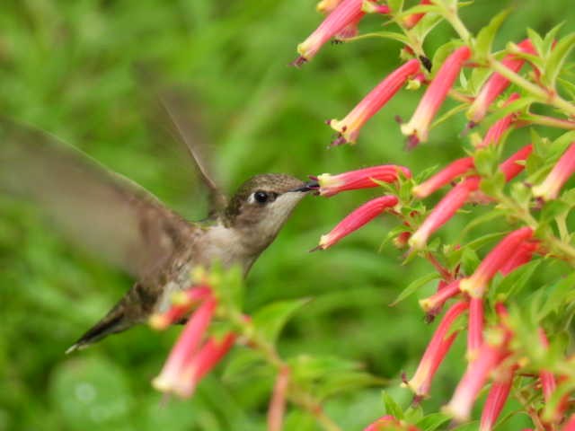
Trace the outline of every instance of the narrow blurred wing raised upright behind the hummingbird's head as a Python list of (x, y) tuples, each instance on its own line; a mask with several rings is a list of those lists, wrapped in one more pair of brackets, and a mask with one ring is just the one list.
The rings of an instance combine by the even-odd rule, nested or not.
[(184, 101), (175, 93), (160, 92), (158, 100), (172, 126), (173, 136), (186, 145), (191, 158), (198, 167), (199, 176), (208, 188), (208, 216), (214, 216), (226, 207), (227, 198), (217, 187), (216, 181), (212, 179), (208, 170), (208, 163), (202, 157), (201, 149), (206, 145), (201, 139), (198, 121), (192, 121), (190, 116), (184, 113), (190, 110), (185, 109)]

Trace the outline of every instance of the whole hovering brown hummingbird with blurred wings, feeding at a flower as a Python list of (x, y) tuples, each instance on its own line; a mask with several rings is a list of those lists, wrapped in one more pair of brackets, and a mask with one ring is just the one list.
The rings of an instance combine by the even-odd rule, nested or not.
[(283, 173), (246, 180), (231, 198), (200, 160), (180, 112), (165, 104), (208, 187), (208, 217), (189, 222), (146, 189), (103, 167), (56, 137), (0, 119), (0, 190), (39, 204), (67, 238), (115, 263), (133, 286), (66, 353), (146, 322), (174, 292), (189, 287), (190, 270), (238, 265), (244, 277), (288, 220), (310, 183)]

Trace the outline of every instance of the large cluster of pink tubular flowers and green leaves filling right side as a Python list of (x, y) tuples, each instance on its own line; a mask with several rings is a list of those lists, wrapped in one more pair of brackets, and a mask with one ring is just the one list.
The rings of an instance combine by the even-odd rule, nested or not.
[[(358, 22), (371, 12), (383, 13), (389, 23), (393, 22), (400, 29), (394, 36), (385, 31), (376, 35), (404, 45), (401, 51), (403, 64), (368, 92), (347, 116), (327, 122), (337, 132), (332, 145), (355, 144), (361, 128), (403, 87), (418, 89), (420, 86), (427, 88), (411, 119), (404, 123), (400, 120), (408, 148), (429, 140), (434, 120), (447, 99), (453, 99), (459, 105), (437, 122), (464, 111), (469, 121), (464, 135), (469, 136), (471, 145), (466, 148), (467, 154), (422, 181), (413, 180), (407, 168), (395, 165), (314, 177), (319, 194), (326, 197), (343, 190), (376, 185), (385, 190), (390, 189), (390, 184), (398, 188), (393, 195), (369, 201), (346, 216), (331, 233), (322, 236), (318, 248), (332, 246), (387, 209), (401, 223), (394, 233), (395, 244), (409, 246), (410, 258), (417, 254), (428, 259), (440, 277), (437, 291), (420, 300), (427, 320), (440, 318), (440, 321), (415, 373), (403, 381), (403, 385), (413, 391), (414, 400), (420, 402), (429, 397), (439, 366), (457, 336), (465, 333), (467, 367), (452, 399), (445, 405), (444, 412), (450, 418), (456, 421), (470, 419), (473, 406), (486, 385), (491, 383), (483, 403), (479, 429), (493, 429), (514, 388), (523, 384), (519, 376), (528, 376), (535, 379), (535, 383), (517, 389), (517, 399), (523, 403), (534, 427), (538, 430), (575, 430), (575, 419), (567, 418), (572, 374), (557, 365), (572, 365), (573, 359), (568, 356), (550, 358), (550, 342), (542, 329), (546, 325), (553, 327), (557, 322), (545, 321), (543, 313), (537, 315), (531, 323), (538, 328), (535, 330), (538, 333), (526, 339), (521, 324), (521, 306), (541, 300), (535, 295), (517, 295), (519, 286), (509, 287), (514, 283), (527, 283), (531, 273), (526, 269), (535, 266), (526, 264), (532, 260), (535, 260), (534, 264), (555, 259), (575, 265), (575, 247), (571, 244), (567, 220), (575, 201), (572, 190), (562, 194), (575, 173), (575, 135), (568, 132), (552, 142), (534, 131), (530, 142), (517, 142), (516, 139), (516, 130), (526, 126), (575, 129), (575, 104), (562, 98), (557, 85), (561, 82), (562, 88), (572, 87), (559, 75), (567, 53), (575, 47), (575, 35), (556, 40), (556, 30), (545, 37), (531, 31), (528, 39), (509, 43), (504, 52), (492, 53), (494, 33), (504, 13), (474, 36), (457, 14), (457, 2), (424, 0), (411, 9), (403, 9), (403, 2), (385, 2), (380, 10), (377, 10), (382, 6), (379, 3), (384, 2), (362, 4), (343, 0), (331, 3), (331, 9), (323, 9), (324, 13), (329, 13), (323, 23), (298, 47), (302, 57), (297, 64), (314, 57), (323, 43), (337, 38), (346, 25), (352, 26), (353, 35), (356, 35)], [(439, 59), (438, 64), (431, 65), (422, 43), (432, 27), (429, 22), (433, 16), (449, 22), (459, 40), (442, 47), (441, 55), (433, 57), (434, 61)], [(474, 69), (473, 73), (468, 73), (470, 69)], [(480, 75), (482, 79), (477, 78)], [(530, 110), (535, 103), (551, 106), (566, 118), (554, 119), (532, 113)], [(482, 136), (477, 132), (481, 128), (484, 128)], [(502, 154), (506, 156), (502, 157)], [(401, 178), (398, 172), (403, 172)], [(524, 179), (516, 180), (522, 174)], [(424, 199), (448, 186), (451, 188), (437, 204), (430, 209), (424, 206)], [(405, 193), (406, 188), (408, 193)], [(482, 246), (479, 242), (446, 244), (443, 248), (437, 245), (438, 241), (429, 244), (429, 239), (466, 204), (490, 206), (488, 216), (500, 217), (510, 225), (503, 227), (506, 224), (501, 224), (498, 230), (507, 233), (483, 259), (476, 258), (476, 251)], [(491, 220), (487, 216), (484, 219)], [(485, 222), (478, 219), (477, 224), (480, 223)], [(470, 266), (473, 259), (464, 261), (465, 252), (478, 263)], [(524, 275), (519, 277), (517, 274)], [(533, 290), (536, 288), (539, 287), (533, 287)], [(543, 290), (546, 286), (540, 288)], [(570, 301), (563, 295), (564, 306), (572, 305)], [(565, 314), (569, 315), (568, 312)], [(555, 318), (563, 325), (569, 324), (568, 317)], [(539, 341), (535, 342), (536, 346), (533, 339)], [(559, 369), (562, 372), (558, 372)], [(526, 391), (528, 397), (523, 397), (521, 391)], [(536, 402), (544, 403), (544, 409)], [(377, 419), (366, 431), (379, 429), (418, 428), (410, 421), (388, 415)]]

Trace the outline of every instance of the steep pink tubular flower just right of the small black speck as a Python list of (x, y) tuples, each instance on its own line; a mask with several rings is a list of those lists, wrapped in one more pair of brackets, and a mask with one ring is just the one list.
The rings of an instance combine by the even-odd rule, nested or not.
[(402, 125), (403, 135), (410, 136), (408, 141), (410, 147), (427, 140), (431, 120), (445, 101), (447, 92), (451, 89), (459, 71), (470, 56), (471, 50), (469, 48), (457, 48), (453, 54), (447, 57), (438, 70), (438, 74), (429, 84), (410, 121)]

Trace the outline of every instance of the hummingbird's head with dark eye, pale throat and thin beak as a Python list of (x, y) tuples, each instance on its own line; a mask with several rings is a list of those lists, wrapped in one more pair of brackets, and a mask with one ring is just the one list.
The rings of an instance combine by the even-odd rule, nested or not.
[(274, 240), (310, 183), (282, 174), (266, 173), (245, 181), (226, 207), (224, 221), (243, 233), (254, 251), (263, 251)]

